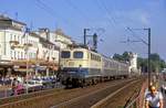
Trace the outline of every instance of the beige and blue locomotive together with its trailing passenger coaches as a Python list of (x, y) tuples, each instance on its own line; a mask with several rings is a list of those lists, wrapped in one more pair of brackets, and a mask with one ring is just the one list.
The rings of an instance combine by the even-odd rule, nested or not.
[(61, 82), (66, 87), (96, 84), (128, 76), (128, 65), (85, 47), (61, 51)]

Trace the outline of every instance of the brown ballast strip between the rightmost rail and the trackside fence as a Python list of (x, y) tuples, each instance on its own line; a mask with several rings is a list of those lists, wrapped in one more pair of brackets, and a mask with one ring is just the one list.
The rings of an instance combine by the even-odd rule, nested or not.
[(125, 106), (134, 99), (142, 87), (143, 80), (132, 82), (113, 91), (91, 108), (125, 108)]

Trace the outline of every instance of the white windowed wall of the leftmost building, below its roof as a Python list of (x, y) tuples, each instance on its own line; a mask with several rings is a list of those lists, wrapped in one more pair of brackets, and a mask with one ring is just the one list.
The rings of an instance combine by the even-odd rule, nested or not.
[(10, 41), (18, 41), (19, 45), (23, 45), (24, 40), (22, 39), (23, 32), (15, 30), (1, 30), (0, 31), (0, 44), (1, 44), (1, 55), (2, 60), (18, 60), (21, 57), (21, 52), (24, 53), (22, 48), (11, 48), (13, 43)]

